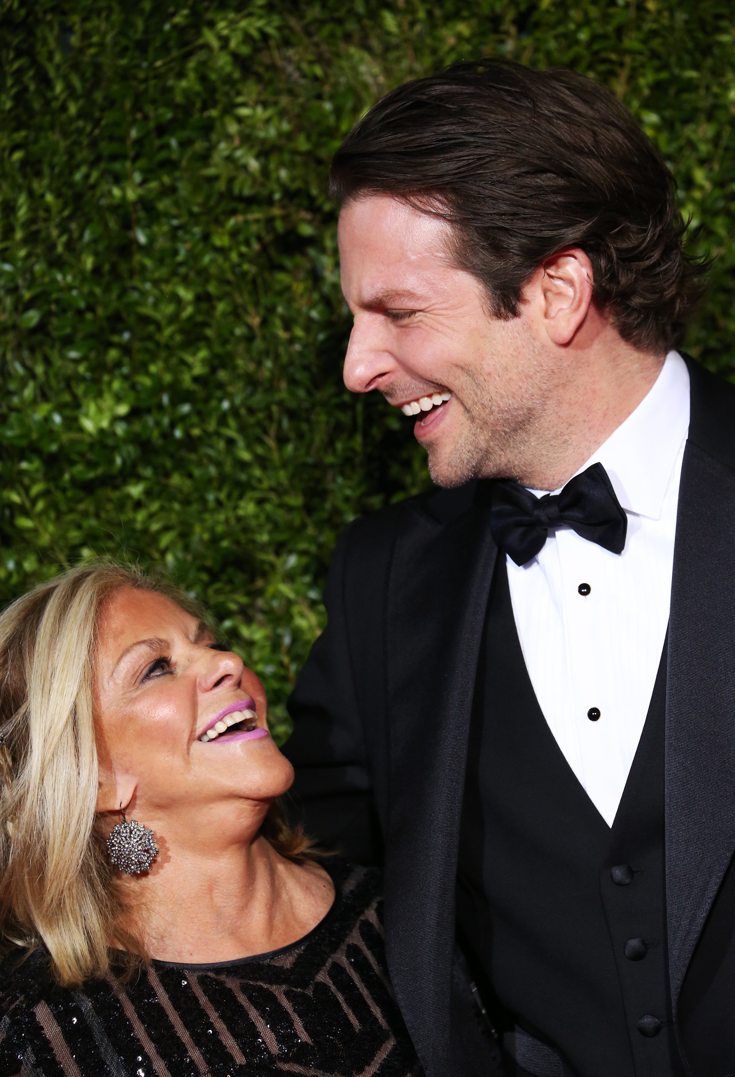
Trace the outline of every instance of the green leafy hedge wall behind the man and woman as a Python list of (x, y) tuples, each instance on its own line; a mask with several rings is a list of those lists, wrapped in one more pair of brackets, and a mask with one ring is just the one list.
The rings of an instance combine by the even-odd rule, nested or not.
[(341, 137), (460, 58), (603, 81), (716, 257), (689, 348), (735, 370), (734, 44), (729, 0), (0, 0), (0, 598), (160, 562), (284, 736), (339, 530), (427, 481), (341, 384)]

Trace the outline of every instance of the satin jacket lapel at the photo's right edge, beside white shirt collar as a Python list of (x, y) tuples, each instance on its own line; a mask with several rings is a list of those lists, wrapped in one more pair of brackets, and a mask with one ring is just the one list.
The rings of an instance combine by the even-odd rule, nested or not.
[(674, 1012), (735, 850), (735, 394), (690, 366), (666, 689), (666, 904)]

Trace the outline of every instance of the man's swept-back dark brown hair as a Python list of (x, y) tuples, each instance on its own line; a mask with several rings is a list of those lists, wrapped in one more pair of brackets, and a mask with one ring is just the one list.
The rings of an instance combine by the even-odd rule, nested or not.
[(581, 248), (624, 340), (666, 351), (698, 298), (674, 178), (633, 116), (574, 71), (455, 64), (386, 94), (335, 154), (341, 205), (390, 194), (452, 225), (456, 264), (513, 318), (549, 255)]

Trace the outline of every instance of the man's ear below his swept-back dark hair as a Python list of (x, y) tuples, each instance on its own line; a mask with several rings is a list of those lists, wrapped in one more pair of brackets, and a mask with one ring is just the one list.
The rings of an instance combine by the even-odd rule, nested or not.
[(552, 254), (538, 267), (524, 298), (532, 300), (534, 320), (552, 344), (571, 342), (590, 310), (593, 283), (592, 263), (576, 247)]

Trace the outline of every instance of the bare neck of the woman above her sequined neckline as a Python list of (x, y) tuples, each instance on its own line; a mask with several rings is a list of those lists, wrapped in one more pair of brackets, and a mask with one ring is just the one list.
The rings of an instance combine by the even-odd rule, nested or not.
[(147, 877), (123, 881), (123, 926), (160, 961), (209, 964), (278, 950), (307, 935), (334, 901), (323, 868), (285, 859), (263, 837), (162, 852)]

